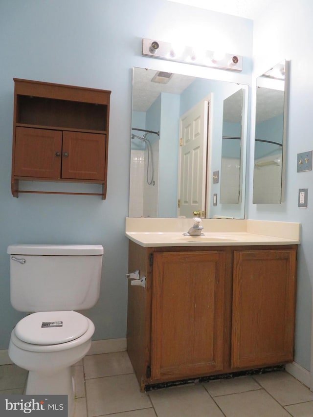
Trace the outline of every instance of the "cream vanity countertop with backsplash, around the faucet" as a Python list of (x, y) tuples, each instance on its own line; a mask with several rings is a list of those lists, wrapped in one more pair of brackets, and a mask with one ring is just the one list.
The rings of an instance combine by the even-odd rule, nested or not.
[(126, 236), (141, 246), (236, 246), (300, 243), (300, 223), (202, 219), (204, 236), (184, 236), (192, 219), (126, 218)]

